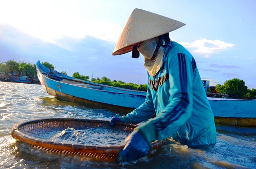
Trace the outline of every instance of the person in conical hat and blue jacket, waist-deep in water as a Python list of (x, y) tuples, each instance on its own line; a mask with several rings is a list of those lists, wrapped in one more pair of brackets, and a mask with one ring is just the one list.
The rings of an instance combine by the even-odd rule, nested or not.
[[(148, 72), (145, 102), (131, 113), (112, 117), (115, 121), (138, 124), (146, 121), (123, 142), (116, 160), (137, 160), (149, 153), (151, 142), (172, 137), (188, 146), (216, 143), (214, 117), (193, 56), (169, 39), (169, 32), (185, 24), (134, 9), (120, 35), (113, 55), (132, 51), (144, 56)], [(154, 116), (156, 115), (156, 116)], [(154, 118), (152, 118), (154, 116)]]

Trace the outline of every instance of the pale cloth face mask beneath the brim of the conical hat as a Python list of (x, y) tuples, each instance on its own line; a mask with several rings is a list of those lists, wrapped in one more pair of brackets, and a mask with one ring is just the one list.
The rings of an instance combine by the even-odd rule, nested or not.
[(145, 40), (140, 48), (138, 48), (138, 51), (147, 59), (151, 59), (154, 52), (155, 52), (155, 49), (156, 49), (156, 46), (157, 46), (157, 41), (158, 41), (158, 37), (155, 37), (155, 38), (152, 38), (152, 39), (149, 39), (149, 40)]

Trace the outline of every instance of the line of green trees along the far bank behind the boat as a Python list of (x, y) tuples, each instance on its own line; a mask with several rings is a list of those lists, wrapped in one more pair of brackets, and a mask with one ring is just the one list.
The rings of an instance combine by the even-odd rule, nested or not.
[[(47, 68), (55, 69), (55, 67), (48, 63), (42, 62), (42, 65), (46, 66)], [(25, 62), (16, 62), (15, 60), (8, 60), (7, 62), (0, 63), (0, 73), (8, 74), (16, 72), (16, 74), (26, 75), (26, 76), (36, 76), (36, 64), (30, 64)], [(65, 71), (61, 72), (63, 74), (67, 73)], [(73, 73), (73, 78), (82, 79), (85, 81), (90, 81), (94, 83), (109, 85), (109, 86), (116, 86), (122, 87), (131, 90), (141, 90), (146, 91), (147, 85), (146, 84), (134, 84), (134, 83), (125, 83), (122, 81), (111, 81), (109, 78), (103, 76), (100, 78), (89, 78), (89, 76), (79, 74), (79, 72)], [(234, 78), (232, 80), (227, 80), (224, 84), (217, 84), (215, 86), (215, 91), (217, 94), (226, 94), (228, 98), (234, 99), (256, 99), (256, 89), (252, 88), (249, 89), (243, 80), (238, 78)], [(208, 91), (210, 92), (210, 91)]]

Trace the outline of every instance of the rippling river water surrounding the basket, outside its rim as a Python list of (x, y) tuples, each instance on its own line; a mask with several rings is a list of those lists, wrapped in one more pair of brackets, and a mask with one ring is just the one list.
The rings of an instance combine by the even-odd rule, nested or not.
[(58, 101), (41, 85), (0, 82), (0, 168), (256, 168), (256, 128), (217, 124), (215, 146), (192, 149), (169, 140), (149, 157), (123, 164), (38, 150), (10, 134), (20, 121), (49, 117), (109, 120), (114, 115)]

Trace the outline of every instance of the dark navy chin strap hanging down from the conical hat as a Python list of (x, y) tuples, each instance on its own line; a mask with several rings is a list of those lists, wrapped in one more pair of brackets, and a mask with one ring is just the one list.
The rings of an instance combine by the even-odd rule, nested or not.
[[(159, 38), (159, 41), (156, 45), (156, 49), (154, 51), (154, 54), (151, 58), (151, 60), (153, 60), (153, 61), (156, 60), (157, 52), (158, 52), (160, 47), (167, 48), (171, 45), (171, 40), (170, 40), (170, 37), (169, 37), (169, 33), (166, 33), (164, 35), (160, 35), (160, 36), (158, 36), (158, 38)], [(138, 44), (136, 44), (132, 47), (131, 57), (132, 58), (139, 58), (140, 57), (140, 52), (138, 51)]]

